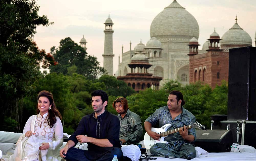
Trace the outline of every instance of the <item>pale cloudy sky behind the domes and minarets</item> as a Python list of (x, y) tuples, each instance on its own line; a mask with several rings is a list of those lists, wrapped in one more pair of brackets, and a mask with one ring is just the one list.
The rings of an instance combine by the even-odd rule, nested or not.
[[(118, 56), (140, 43), (150, 39), (150, 25), (155, 16), (170, 5), (173, 0), (37, 0), (39, 15), (46, 15), (54, 25), (38, 26), (34, 36), (39, 49), (50, 51), (59, 46), (61, 39), (70, 37), (80, 42), (84, 35), (87, 53), (98, 58), (103, 66), (104, 32), (103, 24), (110, 14), (113, 25), (114, 73), (118, 70)], [(192, 14), (199, 25), (199, 49), (216, 32), (222, 35), (237, 23), (252, 38), (255, 47), (256, 1), (255, 0), (177, 0)]]

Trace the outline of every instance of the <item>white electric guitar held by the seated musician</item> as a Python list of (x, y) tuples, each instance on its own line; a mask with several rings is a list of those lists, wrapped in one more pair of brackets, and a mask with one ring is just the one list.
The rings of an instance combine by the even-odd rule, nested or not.
[[(161, 128), (151, 128), (151, 131), (153, 132), (156, 132), (158, 134), (160, 134), (160, 138), (159, 140), (154, 140), (151, 136), (149, 136), (147, 134), (147, 132), (145, 133), (144, 135), (144, 144), (145, 144), (145, 148), (146, 149), (150, 149), (150, 147), (152, 145), (154, 145), (155, 143), (165, 143), (165, 144), (168, 144), (167, 141), (164, 141), (164, 138), (170, 134), (173, 134), (173, 133), (176, 133), (176, 132), (179, 132), (179, 129), (180, 128), (183, 128), (183, 127), (180, 127), (180, 128), (177, 128), (177, 129), (173, 129), (173, 130), (168, 130), (167, 129), (169, 127), (171, 127), (172, 125), (167, 123), (165, 124), (164, 126), (162, 126)], [(202, 129), (202, 130), (206, 130), (205, 129), (205, 126), (201, 125), (200, 123), (196, 122), (196, 123), (191, 123), (190, 125), (187, 125), (186, 126), (187, 129), (190, 129), (190, 128), (196, 128), (196, 129)]]

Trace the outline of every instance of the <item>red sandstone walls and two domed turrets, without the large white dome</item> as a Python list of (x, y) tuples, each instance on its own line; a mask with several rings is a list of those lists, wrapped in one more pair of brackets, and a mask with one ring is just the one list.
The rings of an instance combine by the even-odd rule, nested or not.
[(229, 52), (220, 49), (220, 36), (217, 32), (210, 35), (207, 53), (198, 54), (198, 41), (192, 38), (189, 41), (189, 83), (202, 81), (212, 88), (221, 85), (224, 79), (228, 82)]

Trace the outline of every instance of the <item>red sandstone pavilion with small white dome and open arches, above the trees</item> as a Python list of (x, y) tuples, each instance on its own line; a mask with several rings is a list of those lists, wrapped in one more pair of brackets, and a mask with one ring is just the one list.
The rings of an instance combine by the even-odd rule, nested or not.
[(131, 72), (127, 73), (125, 76), (118, 76), (118, 80), (123, 80), (129, 87), (132, 87), (137, 92), (146, 88), (159, 90), (159, 82), (162, 80), (162, 77), (153, 76), (153, 74), (148, 73), (148, 68), (150, 68), (152, 64), (148, 63), (145, 54), (137, 53), (134, 55), (128, 66), (131, 68)]

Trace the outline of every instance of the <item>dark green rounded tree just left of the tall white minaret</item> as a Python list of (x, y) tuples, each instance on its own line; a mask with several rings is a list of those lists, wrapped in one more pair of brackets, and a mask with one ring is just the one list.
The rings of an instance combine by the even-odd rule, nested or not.
[(86, 51), (69, 37), (60, 40), (57, 49), (52, 47), (50, 50), (58, 62), (58, 65), (50, 66), (50, 72), (67, 75), (76, 71), (90, 79), (95, 79), (106, 72), (103, 67), (99, 66), (100, 63), (96, 57), (87, 55)]

